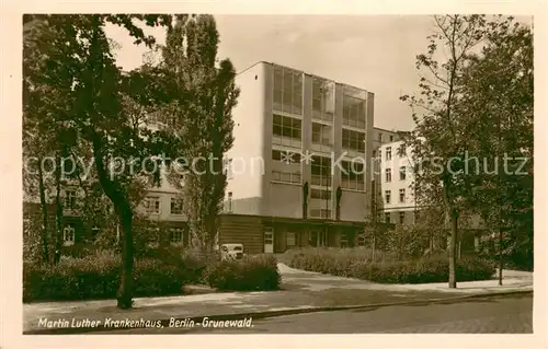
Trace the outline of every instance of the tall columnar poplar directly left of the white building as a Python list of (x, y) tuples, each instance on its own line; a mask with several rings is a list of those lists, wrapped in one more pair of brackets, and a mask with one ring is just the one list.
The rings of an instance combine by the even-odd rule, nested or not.
[(171, 139), (164, 149), (172, 161), (168, 178), (182, 191), (191, 245), (204, 249), (216, 241), (224, 154), (233, 142), (231, 112), (239, 95), (232, 63), (217, 60), (218, 36), (212, 15), (179, 15), (168, 30), (161, 62), (148, 67), (162, 91), (162, 130)]

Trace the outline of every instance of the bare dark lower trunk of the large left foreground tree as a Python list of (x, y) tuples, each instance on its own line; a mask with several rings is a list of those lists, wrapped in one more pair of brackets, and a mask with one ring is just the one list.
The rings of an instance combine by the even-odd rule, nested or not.
[(119, 288), (116, 294), (117, 306), (121, 309), (130, 309), (133, 304), (133, 268), (134, 268), (134, 244), (132, 232), (133, 212), (128, 205), (118, 206), (118, 214), (122, 225), (122, 269), (119, 276)]

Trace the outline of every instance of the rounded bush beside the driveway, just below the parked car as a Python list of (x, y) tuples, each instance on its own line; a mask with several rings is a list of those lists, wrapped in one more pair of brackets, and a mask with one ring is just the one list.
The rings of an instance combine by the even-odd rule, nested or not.
[(219, 260), (208, 265), (204, 280), (227, 291), (267, 291), (279, 288), (281, 276), (274, 256), (247, 256), (241, 260)]

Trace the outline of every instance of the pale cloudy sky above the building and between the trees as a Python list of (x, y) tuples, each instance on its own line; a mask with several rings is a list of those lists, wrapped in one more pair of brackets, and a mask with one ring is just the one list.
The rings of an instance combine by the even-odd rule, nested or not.
[[(410, 108), (399, 100), (416, 91), (415, 56), (425, 53), (433, 19), (426, 15), (216, 15), (220, 59), (237, 71), (258, 61), (275, 62), (354, 85), (375, 94), (375, 127), (411, 130)], [(527, 19), (525, 19), (527, 20)], [(125, 70), (142, 61), (124, 30), (109, 26), (122, 48)], [(164, 34), (148, 30), (159, 43)]]

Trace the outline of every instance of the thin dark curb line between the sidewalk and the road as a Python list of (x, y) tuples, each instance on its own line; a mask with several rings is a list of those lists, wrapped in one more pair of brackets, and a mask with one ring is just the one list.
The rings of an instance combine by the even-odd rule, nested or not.
[[(401, 301), (401, 302), (388, 302), (388, 303), (372, 303), (372, 304), (358, 304), (358, 305), (339, 305), (339, 306), (310, 306), (310, 307), (295, 307), (278, 311), (264, 311), (264, 312), (252, 312), (252, 313), (233, 313), (233, 314), (219, 314), (219, 315), (201, 315), (191, 317), (176, 317), (172, 316), (175, 321), (185, 321), (186, 323), (202, 323), (204, 317), (208, 321), (230, 321), (230, 319), (242, 319), (242, 318), (267, 318), (284, 315), (297, 315), (307, 313), (320, 313), (320, 312), (334, 312), (334, 311), (347, 311), (347, 310), (365, 310), (375, 309), (383, 306), (396, 306), (396, 305), (420, 305), (420, 304), (443, 304), (450, 303), (460, 300), (475, 299), (475, 298), (488, 298), (498, 295), (510, 295), (520, 293), (533, 293), (533, 290), (512, 290), (502, 292), (490, 292), (490, 293), (473, 293), (465, 294), (452, 298), (441, 298), (441, 299), (429, 299), (429, 300), (415, 300), (415, 301)], [(169, 327), (170, 318), (167, 319), (155, 319), (153, 322), (160, 321), (163, 327)], [(133, 327), (142, 328), (142, 327)], [(44, 328), (44, 329), (31, 329), (24, 330), (23, 335), (76, 335), (84, 333), (104, 333), (104, 331), (116, 331), (127, 329), (127, 327), (105, 327), (104, 325), (98, 327), (82, 327), (82, 328)]]

